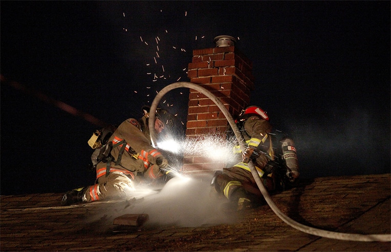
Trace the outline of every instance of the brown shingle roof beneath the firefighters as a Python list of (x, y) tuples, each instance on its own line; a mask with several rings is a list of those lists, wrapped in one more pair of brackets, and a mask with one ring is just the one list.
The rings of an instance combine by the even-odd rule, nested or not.
[[(299, 223), (355, 234), (390, 234), (390, 174), (303, 179), (273, 195)], [(113, 225), (132, 200), (60, 207), (62, 194), (1, 196), (1, 251), (390, 251), (390, 242), (357, 242), (302, 233), (268, 205), (230, 223)], [(119, 208), (122, 211), (117, 211)], [(110, 211), (109, 211), (110, 210)], [(102, 213), (111, 213), (103, 214)], [(147, 213), (148, 214), (148, 213)]]

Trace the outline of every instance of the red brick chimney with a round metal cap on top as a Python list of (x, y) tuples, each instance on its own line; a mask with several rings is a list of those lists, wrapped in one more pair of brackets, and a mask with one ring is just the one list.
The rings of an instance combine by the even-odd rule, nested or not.
[[(193, 50), (187, 74), (191, 83), (218, 97), (234, 118), (249, 105), (250, 92), (254, 89), (252, 62), (235, 47), (235, 42), (231, 36), (218, 36), (214, 38), (216, 47)], [(224, 135), (227, 126), (220, 109), (205, 95), (190, 89), (186, 138), (208, 133)], [(221, 169), (224, 165), (185, 153), (183, 170), (200, 172)]]

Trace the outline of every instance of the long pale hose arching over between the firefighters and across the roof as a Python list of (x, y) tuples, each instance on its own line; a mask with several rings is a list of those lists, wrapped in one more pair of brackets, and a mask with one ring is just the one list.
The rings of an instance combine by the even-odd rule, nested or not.
[[(235, 121), (233, 120), (231, 114), (228, 112), (226, 107), (210, 91), (208, 91), (207, 89), (205, 89), (197, 84), (190, 83), (190, 82), (175, 82), (175, 83), (172, 83), (172, 84), (164, 87), (162, 90), (160, 90), (160, 92), (157, 94), (154, 101), (152, 102), (152, 104), (150, 106), (150, 111), (156, 111), (160, 100), (162, 99), (162, 97), (166, 93), (168, 93), (168, 91), (175, 89), (175, 88), (179, 88), (179, 87), (187, 87), (187, 88), (197, 90), (200, 93), (202, 93), (203, 95), (207, 96), (209, 99), (211, 99), (220, 108), (220, 110), (223, 112), (224, 116), (228, 120), (228, 123), (230, 124), (230, 126), (231, 126), (240, 146), (241, 146), (242, 151), (246, 150), (245, 141), (243, 139), (243, 136), (242, 136), (241, 132), (239, 131), (239, 129), (237, 128)], [(149, 117), (150, 117), (150, 120), (148, 122), (148, 127), (149, 127), (149, 132), (150, 132), (150, 138), (151, 138), (151, 142), (152, 142), (153, 146), (156, 146), (157, 136), (156, 136), (155, 129), (154, 129), (155, 113), (150, 113)], [(249, 163), (249, 167), (251, 170), (251, 174), (255, 179), (256, 185), (258, 186), (260, 192), (264, 196), (266, 202), (269, 204), (270, 208), (273, 210), (273, 212), (281, 220), (283, 220), (285, 223), (292, 226), (293, 228), (296, 228), (296, 230), (299, 230), (301, 232), (304, 232), (304, 233), (307, 233), (310, 235), (315, 235), (315, 236), (320, 236), (320, 237), (325, 237), (325, 238), (330, 238), (330, 239), (337, 239), (337, 240), (382, 241), (382, 242), (391, 241), (391, 234), (360, 235), (360, 234), (350, 234), (350, 233), (339, 233), (339, 232), (321, 230), (319, 228), (306, 226), (306, 225), (303, 225), (303, 224), (296, 222), (295, 220), (289, 218), (288, 216), (286, 216), (283, 212), (281, 212), (278, 209), (277, 205), (274, 203), (274, 201), (270, 197), (268, 191), (266, 190), (265, 186), (263, 185), (262, 180), (260, 180), (260, 177), (259, 177), (257, 171), (255, 170), (254, 164), (252, 162)]]

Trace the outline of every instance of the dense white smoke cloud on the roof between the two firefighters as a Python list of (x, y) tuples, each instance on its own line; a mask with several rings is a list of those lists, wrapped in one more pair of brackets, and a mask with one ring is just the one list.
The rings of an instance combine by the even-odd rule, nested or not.
[(135, 203), (128, 213), (149, 215), (149, 223), (201, 226), (232, 222), (225, 212), (225, 198), (219, 198), (210, 186), (210, 177), (171, 178), (158, 194)]

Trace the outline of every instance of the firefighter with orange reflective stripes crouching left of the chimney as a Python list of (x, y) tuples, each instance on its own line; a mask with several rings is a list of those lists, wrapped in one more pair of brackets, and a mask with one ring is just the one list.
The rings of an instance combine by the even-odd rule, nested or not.
[[(168, 161), (151, 146), (149, 107), (144, 106), (143, 112), (139, 120), (130, 118), (122, 122), (108, 140), (113, 145), (111, 155), (97, 164), (95, 185), (67, 192), (61, 205), (126, 198), (135, 191), (135, 185), (163, 175)], [(157, 110), (155, 130), (158, 135), (172, 123), (166, 111)]]

